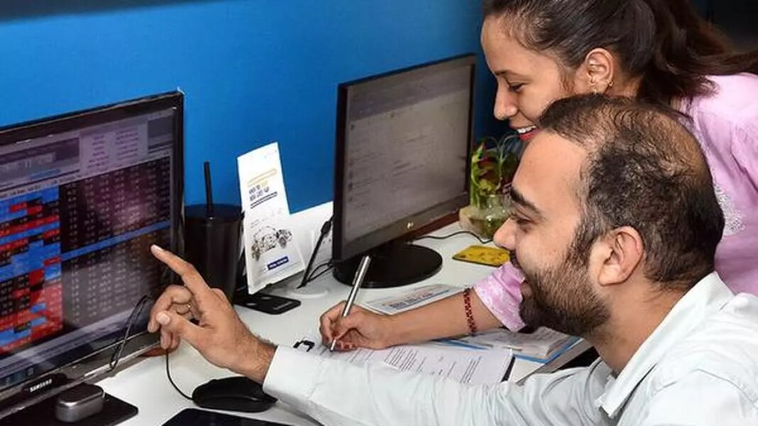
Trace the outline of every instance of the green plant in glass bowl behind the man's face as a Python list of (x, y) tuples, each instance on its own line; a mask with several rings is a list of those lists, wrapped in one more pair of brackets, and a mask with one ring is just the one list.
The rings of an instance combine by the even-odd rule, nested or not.
[(459, 217), (465, 229), (492, 238), (510, 214), (511, 181), (518, 167), (522, 141), (515, 133), (480, 138), (471, 154), (468, 207)]

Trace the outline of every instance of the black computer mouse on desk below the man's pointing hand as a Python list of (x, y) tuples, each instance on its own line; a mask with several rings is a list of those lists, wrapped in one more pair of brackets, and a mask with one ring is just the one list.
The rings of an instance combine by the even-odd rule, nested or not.
[(262, 412), (277, 399), (263, 392), (262, 385), (243, 376), (211, 380), (196, 387), (192, 400), (206, 409)]

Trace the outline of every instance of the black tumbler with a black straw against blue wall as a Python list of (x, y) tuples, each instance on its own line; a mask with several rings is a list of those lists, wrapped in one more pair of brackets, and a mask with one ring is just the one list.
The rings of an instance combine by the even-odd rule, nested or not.
[(213, 203), (211, 165), (206, 161), (203, 166), (205, 204), (184, 209), (186, 260), (195, 266), (208, 285), (220, 288), (231, 301), (242, 248), (243, 212), (237, 205)]

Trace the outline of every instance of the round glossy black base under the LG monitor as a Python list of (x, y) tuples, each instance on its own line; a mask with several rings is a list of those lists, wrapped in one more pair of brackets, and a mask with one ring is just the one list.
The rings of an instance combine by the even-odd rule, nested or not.
[[(390, 242), (368, 252), (371, 266), (368, 267), (362, 288), (391, 288), (409, 285), (436, 274), (442, 267), (440, 253), (428, 247), (404, 242)], [(361, 256), (353, 257), (334, 266), (334, 278), (352, 285), (352, 278), (361, 262)]]

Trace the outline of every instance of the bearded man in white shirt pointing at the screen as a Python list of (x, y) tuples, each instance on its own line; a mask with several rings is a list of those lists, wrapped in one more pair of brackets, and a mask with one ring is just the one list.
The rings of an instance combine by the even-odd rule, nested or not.
[(600, 359), (587, 368), (474, 387), (274, 347), (157, 247), (185, 286), (158, 299), (149, 329), (323, 424), (758, 424), (758, 297), (713, 272), (724, 219), (679, 118), (598, 95), (557, 101), (515, 176), (496, 238), (518, 253), (522, 316), (589, 340)]

